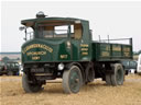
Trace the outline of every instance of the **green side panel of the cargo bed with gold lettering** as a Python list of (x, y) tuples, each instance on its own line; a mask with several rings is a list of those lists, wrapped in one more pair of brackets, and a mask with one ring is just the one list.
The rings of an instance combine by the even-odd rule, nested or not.
[(132, 46), (93, 43), (93, 59), (97, 61), (132, 59)]

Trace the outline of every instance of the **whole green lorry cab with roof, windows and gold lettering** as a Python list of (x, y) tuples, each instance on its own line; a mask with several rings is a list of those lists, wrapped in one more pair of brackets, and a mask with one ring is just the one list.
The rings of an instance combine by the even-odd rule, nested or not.
[(37, 16), (21, 23), (26, 30), (33, 30), (33, 38), (22, 46), (23, 62), (90, 60), (88, 47), (91, 37), (88, 21)]

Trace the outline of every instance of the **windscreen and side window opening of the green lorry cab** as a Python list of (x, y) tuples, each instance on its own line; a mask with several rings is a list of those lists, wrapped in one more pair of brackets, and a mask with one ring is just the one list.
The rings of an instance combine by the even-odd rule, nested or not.
[(70, 24), (70, 25), (39, 24), (39, 37), (41, 38), (55, 38), (55, 37), (65, 38), (68, 37), (68, 34), (74, 39), (80, 39), (83, 34), (82, 24)]

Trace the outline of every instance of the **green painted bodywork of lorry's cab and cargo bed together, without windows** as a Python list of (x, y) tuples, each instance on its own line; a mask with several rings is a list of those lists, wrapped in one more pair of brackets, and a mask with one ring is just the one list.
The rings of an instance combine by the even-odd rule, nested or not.
[[(83, 36), (80, 39), (74, 39), (72, 37), (66, 38), (39, 38), (39, 24), (46, 22), (62, 22), (67, 24), (74, 24), (76, 21), (79, 21), (83, 27)], [(73, 18), (43, 18), (43, 19), (31, 19), (23, 20), (21, 24), (25, 26), (31, 26), (34, 28), (35, 38), (28, 40), (22, 46), (22, 62), (65, 62), (65, 61), (111, 61), (111, 60), (121, 60), (121, 59), (131, 59), (132, 58), (132, 46), (131, 45), (121, 45), (121, 44), (105, 44), (105, 43), (95, 43), (91, 42), (91, 34), (89, 31), (89, 22), (80, 19)], [(70, 47), (67, 47), (67, 42), (70, 43)], [(29, 50), (25, 50), (28, 46), (41, 44), (47, 46), (52, 49), (46, 50), (45, 48), (32, 47)], [(87, 45), (87, 46), (82, 46)], [(121, 50), (113, 50), (113, 48), (121, 48)], [(123, 51), (123, 48), (129, 48), (130, 50)], [(83, 50), (86, 49), (86, 50)], [(30, 55), (33, 52), (32, 55)], [(44, 52), (44, 55), (37, 55), (34, 52)], [(84, 55), (85, 54), (85, 55)], [(63, 55), (63, 56), (62, 56)], [(105, 56), (104, 56), (105, 55)], [(107, 56), (106, 56), (107, 55)], [(126, 56), (128, 55), (128, 56)], [(62, 57), (61, 57), (62, 56)]]

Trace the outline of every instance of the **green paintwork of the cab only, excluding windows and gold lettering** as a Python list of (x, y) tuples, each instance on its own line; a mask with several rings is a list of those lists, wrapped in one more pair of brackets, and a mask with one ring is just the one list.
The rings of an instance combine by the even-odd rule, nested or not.
[[(33, 38), (31, 40), (28, 40), (22, 46), (22, 51), (25, 49), (25, 47), (33, 45), (33, 44), (42, 44), (51, 47), (53, 49), (53, 52), (48, 52), (47, 50), (43, 48), (31, 48), (26, 52), (22, 52), (22, 62), (29, 63), (29, 62), (61, 62), (61, 61), (90, 61), (90, 55), (83, 56), (80, 55), (80, 44), (89, 44), (89, 27), (88, 27), (88, 21), (79, 20), (79, 19), (70, 19), (70, 18), (45, 18), (45, 19), (32, 19), (32, 20), (24, 20), (21, 23), (25, 26), (35, 27), (40, 23), (44, 22), (52, 22), (52, 21), (58, 21), (58, 22), (66, 22), (66, 23), (75, 23), (76, 21), (79, 21), (83, 25), (83, 37), (80, 39), (73, 39), (70, 37), (67, 38)], [(32, 25), (31, 25), (32, 24)], [(35, 36), (37, 36), (37, 30), (35, 30)], [(83, 43), (82, 43), (83, 40)], [(70, 42), (70, 48), (67, 48), (67, 42)], [(36, 57), (34, 55), (28, 56), (28, 52), (35, 52), (35, 51), (46, 51), (46, 55), (40, 55), (39, 59), (32, 59), (33, 57)], [(89, 52), (90, 54), (90, 52)], [(61, 58), (61, 55), (67, 55), (67, 58)]]

